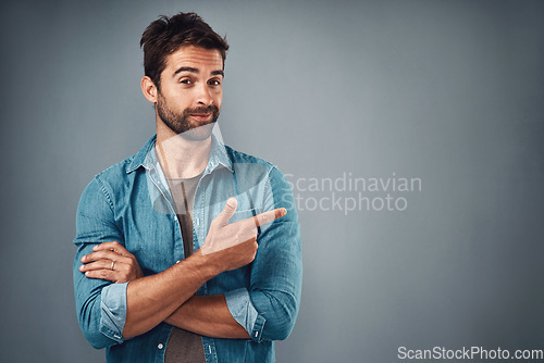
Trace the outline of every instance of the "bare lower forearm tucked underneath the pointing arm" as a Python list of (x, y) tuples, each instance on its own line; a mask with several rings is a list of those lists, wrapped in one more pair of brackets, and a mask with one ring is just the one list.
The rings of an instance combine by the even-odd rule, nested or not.
[(208, 337), (249, 339), (248, 333), (231, 315), (223, 295), (194, 296), (165, 322)]

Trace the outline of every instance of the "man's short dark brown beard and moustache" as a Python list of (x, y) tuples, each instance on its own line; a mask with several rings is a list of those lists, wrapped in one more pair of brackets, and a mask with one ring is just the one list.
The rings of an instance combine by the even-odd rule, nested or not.
[[(157, 99), (157, 113), (171, 130), (190, 141), (203, 141), (209, 138), (219, 117), (219, 109), (214, 104), (185, 109), (182, 113), (176, 113), (169, 108), (160, 93)], [(211, 118), (205, 122), (189, 120), (191, 114), (202, 113), (211, 113)]]

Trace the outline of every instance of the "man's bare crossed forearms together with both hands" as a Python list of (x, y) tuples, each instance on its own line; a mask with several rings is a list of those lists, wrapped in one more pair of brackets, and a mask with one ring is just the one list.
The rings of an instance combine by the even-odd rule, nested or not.
[(162, 273), (144, 276), (135, 256), (116, 241), (95, 246), (92, 253), (82, 258), (79, 271), (87, 278), (131, 281), (124, 339), (144, 334), (163, 321), (210, 337), (249, 338), (231, 315), (223, 295), (194, 293), (221, 272), (250, 263), (257, 251), (257, 226), (283, 216), (286, 211), (276, 209), (227, 224), (236, 210), (236, 200), (232, 198), (230, 202), (213, 221), (205, 246)]

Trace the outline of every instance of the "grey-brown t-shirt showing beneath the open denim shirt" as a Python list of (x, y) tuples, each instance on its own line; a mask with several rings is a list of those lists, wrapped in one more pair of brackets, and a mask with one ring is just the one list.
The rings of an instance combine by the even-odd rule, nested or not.
[[(166, 179), (174, 200), (177, 222), (182, 228), (185, 258), (193, 254), (193, 204), (201, 176), (202, 174), (186, 179)], [(170, 333), (164, 362), (206, 363), (202, 338), (174, 326)]]

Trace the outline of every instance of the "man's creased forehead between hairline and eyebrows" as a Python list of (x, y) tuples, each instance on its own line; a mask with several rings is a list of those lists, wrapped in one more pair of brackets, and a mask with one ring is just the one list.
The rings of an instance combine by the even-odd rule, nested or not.
[(206, 49), (195, 46), (184, 46), (166, 55), (166, 70), (177, 70), (190, 66), (201, 71), (223, 70), (223, 58), (217, 49)]

